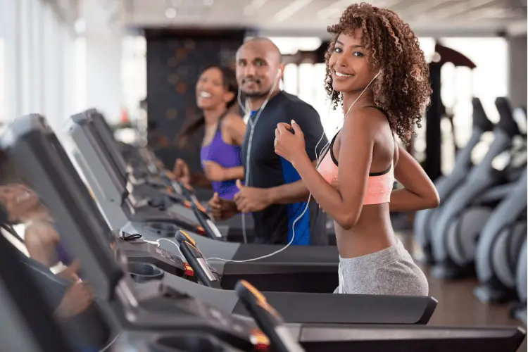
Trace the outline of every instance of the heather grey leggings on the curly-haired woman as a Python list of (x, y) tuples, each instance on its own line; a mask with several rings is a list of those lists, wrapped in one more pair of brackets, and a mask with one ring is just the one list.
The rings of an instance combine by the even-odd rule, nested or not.
[(334, 293), (427, 296), (429, 283), (398, 239), (376, 253), (339, 257), (339, 287)]

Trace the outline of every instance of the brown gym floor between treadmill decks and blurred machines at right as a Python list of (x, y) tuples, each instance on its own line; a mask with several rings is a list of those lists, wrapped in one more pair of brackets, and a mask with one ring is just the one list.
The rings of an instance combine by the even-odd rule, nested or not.
[[(398, 234), (398, 237), (413, 255), (419, 255), (420, 247), (415, 245), (411, 234)], [(429, 325), (455, 326), (520, 326), (522, 322), (510, 318), (512, 304), (488, 305), (473, 296), (473, 289), (477, 287), (475, 278), (453, 280), (451, 282), (436, 279), (430, 275), (427, 265), (421, 265), (429, 279), (429, 294), (439, 303), (429, 321)], [(527, 340), (517, 350), (527, 351)]]

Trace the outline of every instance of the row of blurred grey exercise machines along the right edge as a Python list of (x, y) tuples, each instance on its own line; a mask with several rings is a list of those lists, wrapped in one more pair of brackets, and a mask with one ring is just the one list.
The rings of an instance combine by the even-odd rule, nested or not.
[[(415, 218), (415, 239), (432, 275), (477, 277), (484, 303), (514, 302), (513, 318), (527, 323), (527, 112), (496, 99), (500, 119), (487, 118), (473, 99), (472, 135), (453, 172), (436, 180), (441, 204)], [(487, 152), (481, 161), (473, 156)]]

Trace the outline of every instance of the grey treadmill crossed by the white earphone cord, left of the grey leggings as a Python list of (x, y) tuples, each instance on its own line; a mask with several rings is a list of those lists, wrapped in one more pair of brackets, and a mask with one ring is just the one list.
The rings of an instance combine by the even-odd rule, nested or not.
[[(128, 234), (142, 234), (149, 241), (173, 237), (180, 230), (175, 224), (155, 219), (134, 221), (134, 215), (130, 214), (134, 208), (127, 199), (127, 187), (124, 184), (127, 172), (117, 166), (125, 163), (119, 157), (117, 161), (109, 160), (109, 156), (118, 154), (115, 153), (115, 142), (104, 144), (87, 114), (76, 115), (70, 122), (66, 129), (77, 145), (74, 156), (111, 228)], [(104, 149), (103, 144), (111, 148)], [(114, 152), (109, 151), (111, 149)], [(122, 203), (114, 201), (120, 195), (123, 195)], [(199, 217), (203, 216), (201, 225), (208, 229), (206, 232), (218, 232), (213, 222), (204, 218), (206, 215), (201, 210), (195, 207), (195, 213)], [(203, 237), (192, 231), (189, 234), (199, 244), (206, 258), (227, 260), (210, 260), (222, 276), (222, 287), (225, 289), (233, 289), (239, 279), (247, 279), (265, 291), (330, 293), (339, 282), (337, 246), (289, 246), (284, 249), (282, 245), (237, 244)], [(177, 253), (166, 241), (161, 243), (164, 249)], [(275, 251), (279, 253), (251, 260)]]

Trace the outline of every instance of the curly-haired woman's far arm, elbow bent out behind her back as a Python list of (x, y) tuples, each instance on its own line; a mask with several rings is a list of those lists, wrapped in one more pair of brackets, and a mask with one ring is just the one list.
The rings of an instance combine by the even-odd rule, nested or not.
[(398, 153), (394, 177), (404, 188), (392, 191), (390, 210), (414, 211), (439, 206), (436, 187), (420, 164), (402, 146), (398, 146)]

